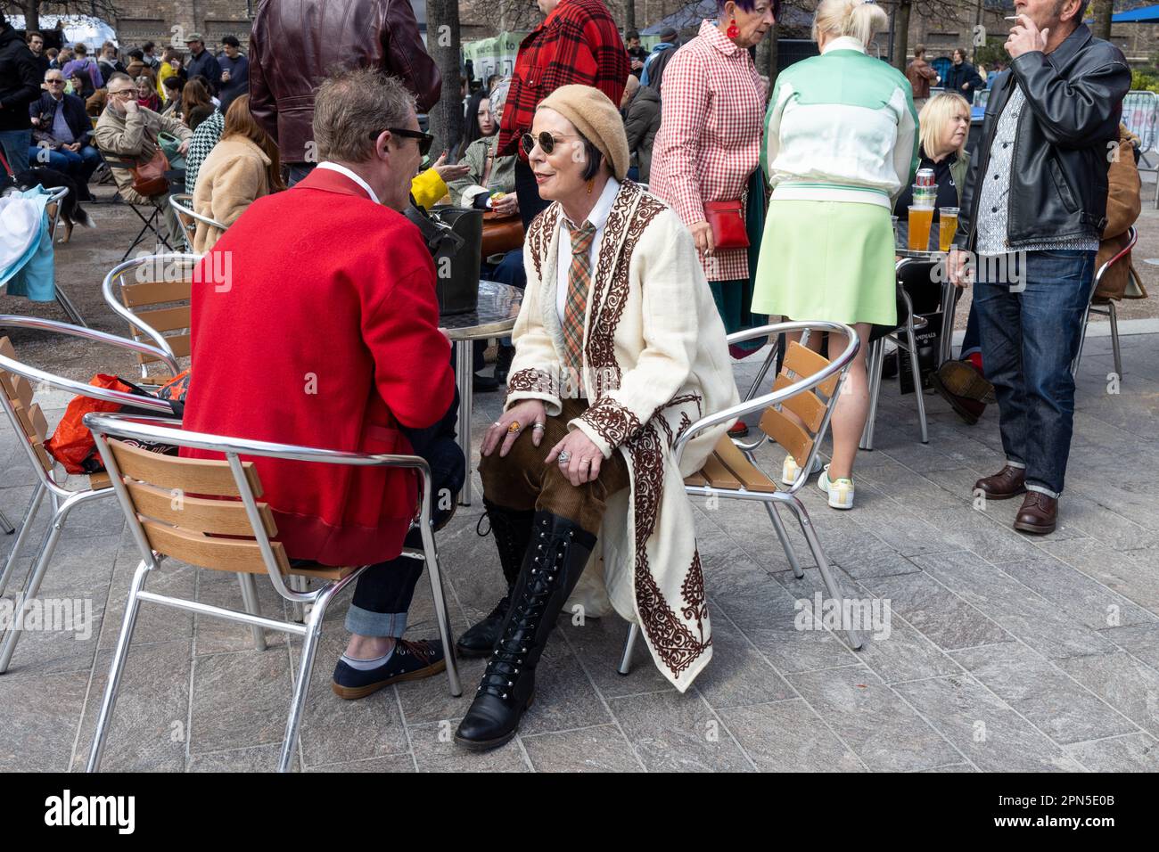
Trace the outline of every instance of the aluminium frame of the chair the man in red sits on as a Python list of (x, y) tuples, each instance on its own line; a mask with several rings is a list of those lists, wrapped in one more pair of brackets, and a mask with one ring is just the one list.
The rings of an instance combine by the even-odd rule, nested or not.
[[(362, 566), (342, 577), (323, 582), (314, 591), (298, 591), (292, 584), (287, 584), (289, 576), (283, 575), (282, 567), (277, 561), (270, 545), (270, 537), (265, 532), (261, 511), (257, 505), (250, 481), (242, 466), (241, 456), (278, 458), (297, 461), (311, 461), (321, 464), (355, 465), (360, 467), (394, 467), (414, 469), (420, 474), (422, 482), (422, 501), (418, 508), (416, 524), (422, 533), (422, 548), (403, 547), (402, 555), (410, 559), (423, 560), (427, 565), (427, 573), (431, 584), (431, 595), (435, 600), (435, 614), (438, 622), (439, 636), (443, 641), (443, 653), (446, 660), (446, 673), (450, 683), (451, 694), (459, 697), (462, 687), (459, 683), (459, 671), (454, 658), (454, 643), (451, 634), (451, 622), (447, 616), (446, 598), (443, 590), (443, 580), (438, 566), (438, 551), (435, 546), (433, 524), (431, 518), (431, 495), (433, 486), (431, 471), (427, 460), (417, 456), (370, 456), (357, 452), (343, 452), (337, 450), (323, 450), (320, 447), (297, 446), (292, 444), (278, 444), (265, 440), (249, 440), (245, 438), (227, 438), (218, 435), (206, 435), (201, 432), (189, 432), (182, 429), (174, 429), (172, 420), (160, 417), (138, 417), (115, 414), (88, 414), (85, 416), (85, 424), (93, 431), (101, 458), (104, 459), (105, 469), (112, 483), (112, 490), (117, 495), (121, 508), (124, 511), (129, 529), (133, 533), (137, 547), (141, 552), (141, 561), (133, 574), (132, 584), (129, 590), (129, 599), (125, 604), (125, 616), (121, 625), (121, 633), (117, 638), (116, 650), (112, 656), (112, 664), (109, 669), (109, 679), (105, 686), (104, 697), (101, 701), (101, 711), (97, 716), (96, 730), (93, 737), (93, 747), (89, 751), (88, 772), (96, 772), (101, 765), (101, 757), (104, 750), (104, 741), (108, 734), (109, 721), (112, 715), (117, 699), (117, 690), (121, 684), (121, 676), (124, 669), (125, 658), (129, 654), (129, 645), (132, 640), (133, 627), (137, 621), (137, 612), (141, 602), (172, 606), (178, 610), (198, 613), (202, 616), (213, 616), (231, 621), (241, 621), (252, 625), (255, 629), (268, 628), (301, 636), (301, 658), (298, 675), (293, 683), (293, 698), (290, 705), (290, 715), (286, 720), (285, 737), (282, 742), (282, 753), (278, 762), (279, 772), (289, 772), (293, 757), (294, 743), (298, 741), (298, 729), (301, 723), (302, 708), (309, 689), (311, 671), (314, 665), (314, 657), (318, 653), (319, 640), (322, 634), (322, 619), (329, 607), (330, 602), (347, 585), (355, 581), (369, 566)], [(138, 438), (143, 440), (160, 440), (166, 444), (209, 450), (224, 453), (233, 473), (234, 482), (241, 496), (241, 502), (246, 507), (246, 514), (253, 527), (254, 538), (261, 549), (262, 561), (265, 570), (274, 584), (275, 590), (285, 600), (294, 604), (313, 604), (306, 624), (294, 621), (280, 621), (263, 618), (255, 612), (239, 612), (221, 606), (213, 606), (197, 600), (176, 598), (169, 595), (145, 591), (145, 581), (150, 573), (159, 567), (165, 558), (155, 553), (148, 542), (140, 518), (129, 495), (116, 457), (109, 447), (108, 440), (119, 437)], [(247, 576), (253, 577), (253, 574)], [(248, 609), (248, 607), (247, 607)], [(291, 676), (293, 672), (291, 671)]]

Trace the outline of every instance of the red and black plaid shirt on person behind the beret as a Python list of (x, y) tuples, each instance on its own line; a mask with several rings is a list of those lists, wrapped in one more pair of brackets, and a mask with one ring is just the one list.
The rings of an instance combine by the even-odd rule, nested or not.
[(615, 21), (600, 0), (562, 0), (519, 43), (511, 88), (503, 104), (498, 154), (518, 152), (535, 107), (560, 86), (595, 86), (620, 107), (630, 66)]

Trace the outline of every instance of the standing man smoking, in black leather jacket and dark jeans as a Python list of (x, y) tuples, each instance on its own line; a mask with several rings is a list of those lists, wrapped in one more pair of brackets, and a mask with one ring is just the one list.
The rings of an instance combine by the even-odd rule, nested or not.
[(1037, 534), (1057, 520), (1074, 416), (1070, 364), (1106, 225), (1108, 144), (1131, 85), (1122, 52), (1081, 23), (1086, 5), (1016, 0), (1009, 71), (991, 87), (948, 261), (958, 285), (976, 278), (1006, 452), (975, 493), (1026, 494), (1014, 529)]

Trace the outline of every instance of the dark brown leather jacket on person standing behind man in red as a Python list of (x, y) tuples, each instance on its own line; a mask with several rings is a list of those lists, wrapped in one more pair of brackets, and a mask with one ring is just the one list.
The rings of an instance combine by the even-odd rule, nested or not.
[(314, 89), (338, 66), (400, 78), (421, 112), (442, 93), (409, 0), (263, 0), (249, 36), (249, 111), (277, 141), (283, 162), (316, 159), (306, 150)]

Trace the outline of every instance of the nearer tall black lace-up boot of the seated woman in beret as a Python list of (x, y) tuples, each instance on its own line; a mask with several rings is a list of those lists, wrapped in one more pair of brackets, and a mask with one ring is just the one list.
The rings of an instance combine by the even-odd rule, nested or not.
[(454, 738), (469, 749), (494, 749), (519, 728), (535, 691), (535, 665), (568, 596), (596, 546), (596, 537), (575, 522), (535, 512), (531, 545), (511, 592), (475, 700)]

